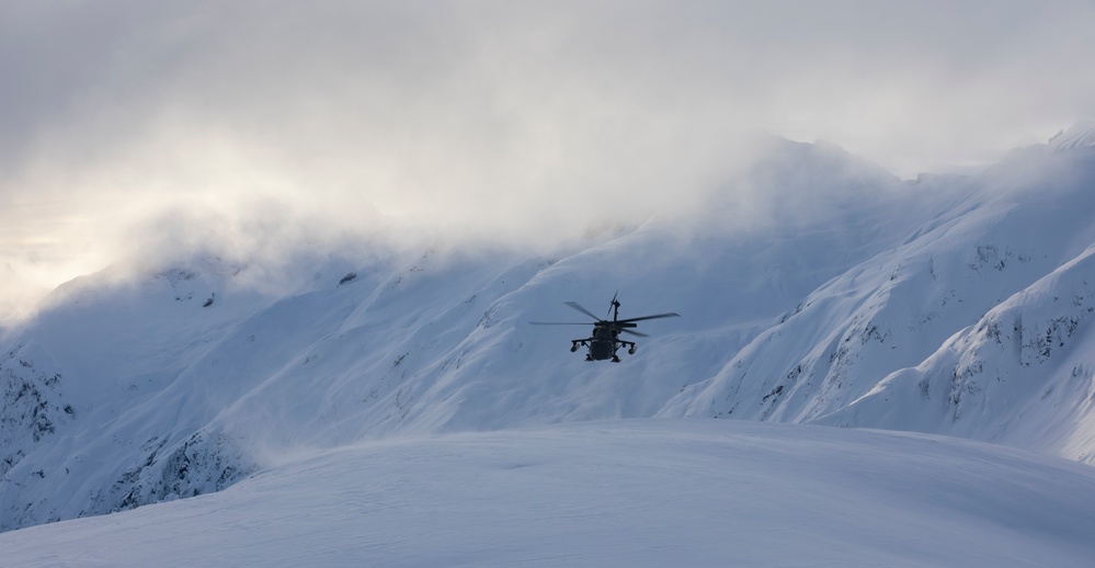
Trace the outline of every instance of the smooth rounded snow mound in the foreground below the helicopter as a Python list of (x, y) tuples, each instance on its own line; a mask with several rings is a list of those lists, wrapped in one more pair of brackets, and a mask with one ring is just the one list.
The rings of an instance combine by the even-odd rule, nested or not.
[(1095, 469), (924, 434), (614, 420), (298, 455), (0, 535), (22, 567), (1090, 566)]

